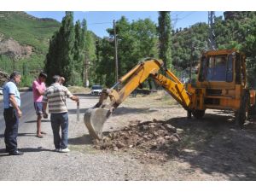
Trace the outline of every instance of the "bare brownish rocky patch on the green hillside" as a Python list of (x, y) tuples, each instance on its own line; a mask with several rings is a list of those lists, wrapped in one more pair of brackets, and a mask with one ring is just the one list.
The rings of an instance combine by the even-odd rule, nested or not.
[(20, 45), (12, 38), (4, 39), (0, 36), (0, 55), (8, 55), (15, 60), (29, 57), (32, 54), (32, 46)]

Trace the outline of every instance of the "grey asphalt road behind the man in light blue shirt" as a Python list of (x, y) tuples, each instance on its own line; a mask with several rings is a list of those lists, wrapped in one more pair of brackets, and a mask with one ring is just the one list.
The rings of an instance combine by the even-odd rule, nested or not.
[[(24, 123), (30, 119), (36, 119), (33, 107), (32, 91), (20, 92), (22, 118), (20, 119), (19, 130), (24, 128)], [(3, 134), (5, 123), (3, 119), (3, 101), (0, 101), (0, 134)]]

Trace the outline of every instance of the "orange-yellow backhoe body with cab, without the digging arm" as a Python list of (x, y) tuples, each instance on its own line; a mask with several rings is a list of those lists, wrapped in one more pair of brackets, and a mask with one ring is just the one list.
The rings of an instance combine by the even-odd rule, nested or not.
[[(210, 73), (209, 68), (202, 67), (203, 61), (212, 61), (212, 72), (214, 73), (214, 64), (218, 58), (226, 58), (230, 62), (226, 64), (225, 79), (214, 80), (214, 78), (201, 78)], [(214, 63), (215, 62), (215, 63)], [(210, 65), (210, 64), (209, 64)], [(230, 73), (230, 78), (227, 79)], [(218, 75), (218, 74), (215, 74)], [(196, 84), (188, 85), (188, 92), (192, 94), (191, 107), (192, 109), (206, 110), (207, 108), (215, 109), (230, 109), (238, 111), (241, 108), (241, 98), (246, 95), (249, 90), (246, 86), (246, 65), (245, 55), (239, 53), (235, 49), (213, 50), (207, 51), (201, 57), (199, 73)], [(255, 91), (250, 91), (250, 105), (255, 105)]]

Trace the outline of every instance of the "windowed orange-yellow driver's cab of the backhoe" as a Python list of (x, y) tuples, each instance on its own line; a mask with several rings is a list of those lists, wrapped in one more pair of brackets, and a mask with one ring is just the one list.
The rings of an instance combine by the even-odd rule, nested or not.
[(235, 87), (246, 84), (245, 56), (235, 49), (211, 50), (201, 57), (197, 86)]

